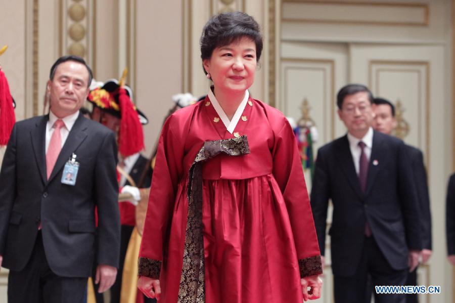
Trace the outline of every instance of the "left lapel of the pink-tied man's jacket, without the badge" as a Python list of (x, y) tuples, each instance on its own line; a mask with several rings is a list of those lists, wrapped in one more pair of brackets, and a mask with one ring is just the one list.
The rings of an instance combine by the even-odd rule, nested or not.
[(48, 123), (49, 115), (42, 116), (36, 123), (36, 127), (30, 131), (33, 153), (35, 155), (36, 164), (38, 165), (39, 174), (42, 183), (46, 183), (46, 124)]

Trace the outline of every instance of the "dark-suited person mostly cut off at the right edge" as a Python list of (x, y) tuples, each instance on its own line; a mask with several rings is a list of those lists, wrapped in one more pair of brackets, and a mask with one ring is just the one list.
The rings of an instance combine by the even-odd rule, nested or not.
[(445, 216), (447, 259), (455, 266), (455, 174), (450, 176), (447, 185)]

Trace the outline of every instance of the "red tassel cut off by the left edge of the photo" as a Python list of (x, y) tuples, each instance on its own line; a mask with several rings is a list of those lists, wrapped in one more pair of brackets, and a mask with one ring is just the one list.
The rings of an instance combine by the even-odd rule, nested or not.
[(15, 122), (10, 86), (5, 73), (0, 69), (0, 146), (8, 144)]

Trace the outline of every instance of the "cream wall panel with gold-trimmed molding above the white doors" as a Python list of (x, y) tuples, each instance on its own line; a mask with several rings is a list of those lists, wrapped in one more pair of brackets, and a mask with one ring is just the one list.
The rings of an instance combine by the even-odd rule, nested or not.
[(332, 42), (443, 42), (449, 18), (445, 9), (447, 2), (283, 0), (282, 38)]

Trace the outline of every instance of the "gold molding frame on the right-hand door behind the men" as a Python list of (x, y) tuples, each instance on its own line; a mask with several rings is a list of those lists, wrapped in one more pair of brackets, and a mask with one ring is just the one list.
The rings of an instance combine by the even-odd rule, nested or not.
[[(430, 179), (430, 62), (428, 61), (401, 61), (401, 60), (371, 60), (369, 62), (369, 85), (370, 87), (372, 86), (372, 76), (373, 76), (373, 65), (395, 65), (395, 66), (400, 66), (400, 65), (406, 65), (406, 66), (420, 66), (425, 68), (425, 121), (426, 121), (426, 129), (425, 129), (425, 155), (424, 157), (426, 158), (426, 163), (427, 163), (427, 171), (428, 171), (428, 179)], [(384, 69), (384, 68), (383, 68)], [(402, 71), (419, 71), (418, 69), (416, 70), (410, 70), (410, 69), (391, 69), (390, 70), (396, 71), (396, 72), (402, 72)], [(379, 86), (376, 86), (376, 89)], [(420, 111), (420, 109), (419, 109)], [(420, 117), (419, 117), (420, 118)], [(420, 137), (421, 134), (419, 134)], [(420, 140), (420, 138), (419, 138)]]

